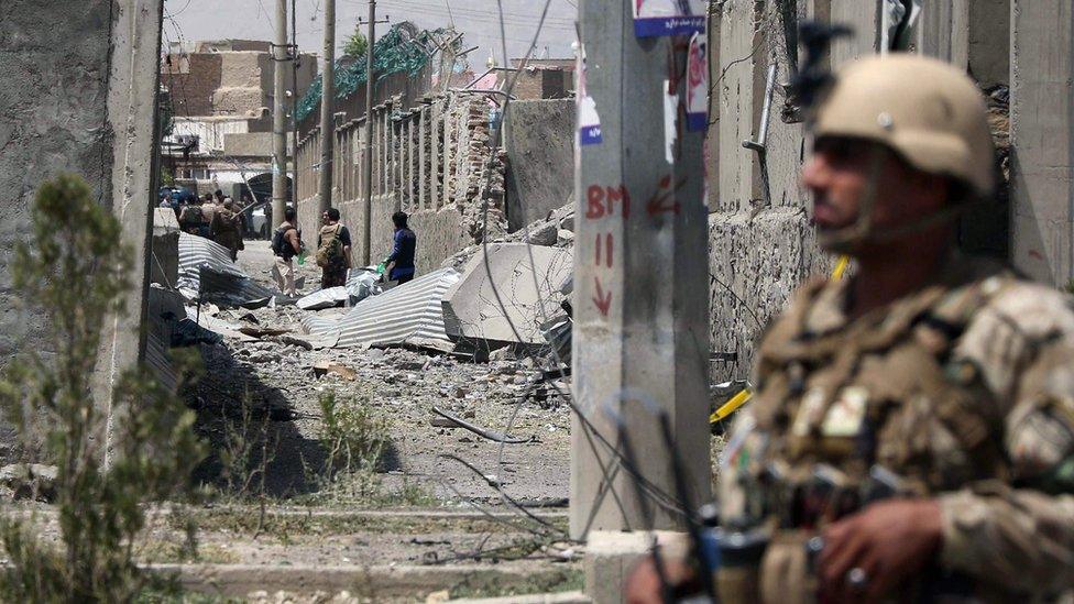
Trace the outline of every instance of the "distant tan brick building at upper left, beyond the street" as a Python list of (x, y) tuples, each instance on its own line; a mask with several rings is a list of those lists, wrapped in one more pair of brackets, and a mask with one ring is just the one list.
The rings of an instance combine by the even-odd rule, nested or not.
[[(268, 42), (250, 40), (168, 47), (162, 58), (161, 85), (171, 98), (174, 128), (164, 139), (164, 165), (179, 184), (199, 193), (220, 188), (238, 198), (245, 182), (259, 199), (271, 195), (271, 51)], [(317, 56), (300, 55), (296, 98), (306, 94), (316, 76)], [(289, 114), (289, 99), (287, 107)]]

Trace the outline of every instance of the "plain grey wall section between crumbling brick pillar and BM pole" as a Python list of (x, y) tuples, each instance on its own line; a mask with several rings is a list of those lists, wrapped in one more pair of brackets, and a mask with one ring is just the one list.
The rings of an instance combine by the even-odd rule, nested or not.
[(574, 101), (531, 100), (507, 106), (507, 226), (545, 218), (574, 193)]

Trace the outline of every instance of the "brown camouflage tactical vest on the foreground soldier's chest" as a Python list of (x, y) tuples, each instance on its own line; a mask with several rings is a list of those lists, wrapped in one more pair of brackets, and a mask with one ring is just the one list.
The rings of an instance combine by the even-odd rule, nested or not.
[[(1012, 283), (993, 274), (930, 286), (818, 332), (808, 327), (811, 314), (833, 293), (823, 281), (804, 288), (758, 350), (752, 426), (724, 451), (746, 516), (776, 528), (759, 584), (725, 596), (759, 589), (764, 598), (810, 602), (806, 540), (867, 504), (877, 472), (896, 477), (884, 496), (1008, 476), (1004, 406), (957, 345), (973, 317)], [(818, 481), (829, 493), (820, 502), (810, 496)]]

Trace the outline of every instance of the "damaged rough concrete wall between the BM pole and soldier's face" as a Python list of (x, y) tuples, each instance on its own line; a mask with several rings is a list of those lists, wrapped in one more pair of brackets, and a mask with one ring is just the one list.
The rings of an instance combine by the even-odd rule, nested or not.
[[(748, 376), (752, 352), (768, 321), (790, 294), (833, 260), (821, 253), (809, 222), (807, 191), (799, 183), (809, 154), (800, 123), (781, 116), (796, 42), (788, 32), (811, 18), (853, 28), (839, 41), (831, 62), (839, 66), (877, 52), (879, 2), (799, 0), (787, 3), (725, 0), (711, 7), (710, 81), (713, 87), (708, 140), (710, 308), (716, 381)], [(968, 61), (969, 2), (955, 0), (923, 11), (911, 36), (914, 48), (963, 67)], [(794, 21), (791, 23), (790, 21)], [(785, 28), (786, 25), (789, 25)], [(769, 65), (777, 66), (767, 160), (742, 146), (760, 127)], [(787, 121), (785, 121), (785, 119)], [(763, 176), (771, 196), (765, 199)], [(979, 233), (978, 237), (990, 237)]]

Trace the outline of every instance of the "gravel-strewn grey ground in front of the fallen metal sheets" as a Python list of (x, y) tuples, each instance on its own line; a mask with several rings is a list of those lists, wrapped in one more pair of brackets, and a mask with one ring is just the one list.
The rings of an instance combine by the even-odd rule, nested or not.
[[(267, 242), (248, 241), (240, 265), (255, 279), (271, 284)], [(305, 292), (315, 288), (317, 267), (299, 267)], [(319, 311), (322, 315), (346, 309)], [(295, 307), (255, 311), (222, 310), (216, 318), (300, 333), (307, 311)], [(254, 323), (256, 321), (256, 323)], [(286, 339), (286, 338), (284, 338)], [(387, 493), (406, 486), (438, 504), (464, 505), (465, 499), (501, 505), (495, 485), (526, 505), (566, 505), (569, 483), (569, 408), (558, 396), (524, 402), (529, 383), (540, 375), (535, 359), (473, 363), (428, 350), (307, 350), (280, 338), (226, 338), (205, 345), (208, 375), (199, 388), (199, 413), (206, 433), (220, 442), (237, 420), (256, 426), (267, 413), (275, 454), (267, 464), (266, 491), (275, 498), (309, 498), (320, 491), (310, 470), (324, 462), (324, 418), (319, 400), (333, 393), (341, 404), (369, 407), (387, 420), (390, 444), (380, 479)], [(512, 355), (507, 355), (512, 356)], [(317, 377), (314, 364), (329, 361), (339, 375)], [(350, 371), (347, 371), (350, 370)], [(559, 384), (567, 387), (566, 384)], [(243, 417), (243, 402), (254, 413)], [(526, 439), (501, 444), (434, 414), (434, 407), (476, 426)], [(473, 465), (442, 455), (456, 455)], [(331, 503), (331, 497), (325, 499)]]

